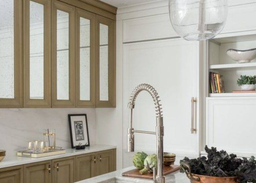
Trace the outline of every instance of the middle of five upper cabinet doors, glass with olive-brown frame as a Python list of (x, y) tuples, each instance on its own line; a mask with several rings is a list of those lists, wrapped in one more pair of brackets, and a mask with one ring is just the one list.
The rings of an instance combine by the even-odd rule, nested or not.
[(52, 107), (75, 107), (75, 7), (52, 0)]

